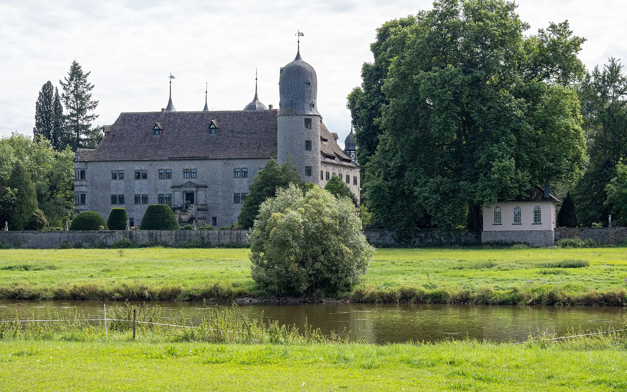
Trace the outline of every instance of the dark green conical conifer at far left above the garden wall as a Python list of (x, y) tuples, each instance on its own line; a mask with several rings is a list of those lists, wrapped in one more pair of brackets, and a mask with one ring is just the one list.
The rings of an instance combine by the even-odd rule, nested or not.
[(3, 218), (9, 222), (10, 230), (24, 230), (33, 218), (38, 204), (31, 175), (22, 162), (15, 162), (7, 188), (14, 190), (15, 198), (3, 211)]

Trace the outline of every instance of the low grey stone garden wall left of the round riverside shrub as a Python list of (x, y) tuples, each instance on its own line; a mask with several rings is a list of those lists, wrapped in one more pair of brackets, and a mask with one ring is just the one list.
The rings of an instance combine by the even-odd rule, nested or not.
[(0, 231), (0, 241), (21, 248), (60, 248), (64, 241), (70, 245), (87, 246), (117, 240), (136, 243), (162, 241), (168, 244), (185, 241), (209, 241), (212, 245), (239, 243), (246, 245), (248, 230), (101, 230), (101, 231)]

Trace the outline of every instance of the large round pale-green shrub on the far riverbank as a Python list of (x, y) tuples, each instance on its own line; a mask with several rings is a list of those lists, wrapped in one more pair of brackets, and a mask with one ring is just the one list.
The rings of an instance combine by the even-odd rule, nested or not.
[(251, 231), (251, 276), (269, 294), (332, 296), (366, 273), (374, 248), (354, 204), (319, 186), (290, 185), (260, 206)]

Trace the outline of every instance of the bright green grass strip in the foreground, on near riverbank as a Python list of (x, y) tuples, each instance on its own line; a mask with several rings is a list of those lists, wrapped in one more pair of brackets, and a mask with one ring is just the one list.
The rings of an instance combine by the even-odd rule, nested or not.
[(0, 391), (617, 391), (627, 350), (543, 346), (3, 341)]

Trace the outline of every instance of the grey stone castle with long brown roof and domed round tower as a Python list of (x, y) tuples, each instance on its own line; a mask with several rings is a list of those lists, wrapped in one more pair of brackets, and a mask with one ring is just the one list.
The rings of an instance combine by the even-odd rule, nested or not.
[[(324, 186), (337, 175), (359, 198), (354, 151), (342, 150), (322, 122), (317, 89), (300, 50), (280, 70), (278, 109), (260, 102), (255, 83), (243, 110), (209, 111), (205, 96), (202, 111), (177, 112), (170, 88), (166, 109), (122, 113), (105, 126), (96, 149), (78, 149), (75, 211), (106, 220), (112, 208), (124, 207), (130, 226), (139, 226), (149, 204), (169, 204), (181, 225), (231, 226), (256, 174), (269, 159), (283, 164), (288, 155), (305, 183)], [(354, 150), (352, 140), (347, 148)]]

